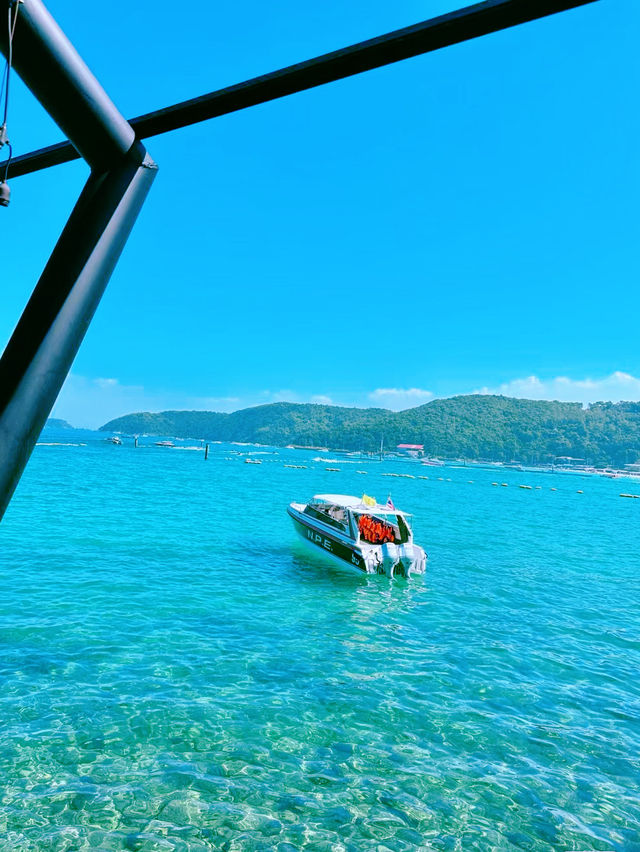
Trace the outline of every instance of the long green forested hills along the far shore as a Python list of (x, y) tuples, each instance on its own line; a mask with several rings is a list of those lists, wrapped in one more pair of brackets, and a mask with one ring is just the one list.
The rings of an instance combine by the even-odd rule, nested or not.
[(597, 466), (640, 460), (640, 402), (580, 403), (479, 394), (435, 399), (417, 408), (345, 408), (276, 402), (232, 414), (141, 412), (100, 427), (125, 434), (171, 435), (271, 446), (322, 446), (375, 452), (384, 442), (423, 444), (428, 456), (525, 464), (560, 456)]

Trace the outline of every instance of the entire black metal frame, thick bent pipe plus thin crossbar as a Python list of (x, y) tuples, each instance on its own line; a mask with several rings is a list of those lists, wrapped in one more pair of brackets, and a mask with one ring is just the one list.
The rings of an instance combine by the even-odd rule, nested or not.
[(91, 175), (0, 359), (0, 518), (155, 176), (140, 139), (597, 0), (486, 0), (129, 122), (41, 0), (0, 10), (16, 2), (13, 67), (69, 140), (16, 157), (9, 177), (79, 157)]

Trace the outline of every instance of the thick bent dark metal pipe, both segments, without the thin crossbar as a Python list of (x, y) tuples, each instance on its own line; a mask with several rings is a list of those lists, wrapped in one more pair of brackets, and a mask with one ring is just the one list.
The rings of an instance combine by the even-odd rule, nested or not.
[(91, 175), (0, 358), (0, 518), (157, 171), (41, 0), (16, 3), (13, 67)]

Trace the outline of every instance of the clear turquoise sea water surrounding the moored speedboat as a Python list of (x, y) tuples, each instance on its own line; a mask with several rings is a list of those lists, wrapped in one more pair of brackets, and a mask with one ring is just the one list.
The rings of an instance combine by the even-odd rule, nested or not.
[[(87, 439), (0, 527), (0, 848), (640, 850), (637, 483)], [(300, 550), (323, 491), (425, 577)]]

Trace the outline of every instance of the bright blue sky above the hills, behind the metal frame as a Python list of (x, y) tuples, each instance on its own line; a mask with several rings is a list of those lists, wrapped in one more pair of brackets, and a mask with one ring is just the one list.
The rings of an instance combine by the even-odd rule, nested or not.
[[(48, 3), (128, 117), (457, 5)], [(639, 23), (601, 0), (148, 140), (55, 414), (640, 399)], [(9, 127), (16, 153), (61, 138), (21, 84)], [(12, 183), (3, 342), (86, 175)]]

